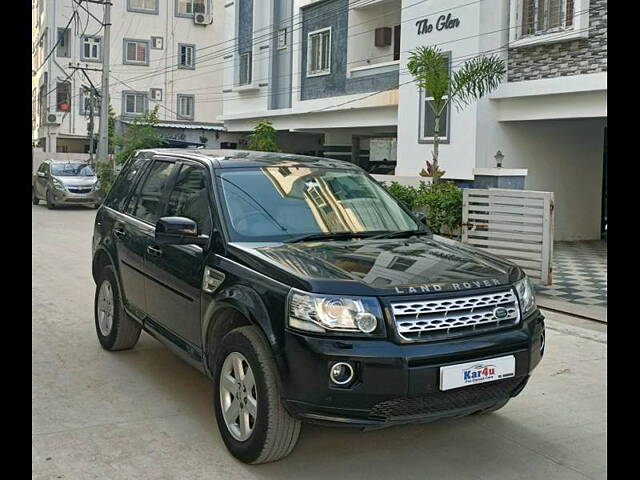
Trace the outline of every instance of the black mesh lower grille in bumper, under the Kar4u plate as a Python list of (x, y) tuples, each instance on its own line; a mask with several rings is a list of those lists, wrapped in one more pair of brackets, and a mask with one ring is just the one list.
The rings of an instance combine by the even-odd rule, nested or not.
[(369, 410), (369, 418), (398, 420), (403, 417), (427, 416), (449, 410), (470, 408), (484, 403), (497, 403), (510, 398), (525, 381), (526, 378), (510, 378), (445, 392), (395, 398), (374, 405)]

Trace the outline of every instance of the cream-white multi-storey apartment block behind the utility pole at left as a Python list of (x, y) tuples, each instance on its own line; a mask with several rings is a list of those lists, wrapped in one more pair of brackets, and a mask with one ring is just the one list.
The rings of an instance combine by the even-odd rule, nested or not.
[[(110, 102), (129, 122), (158, 106), (160, 131), (177, 141), (219, 147), (227, 138), (220, 57), (223, 0), (120, 0), (111, 8)], [(91, 95), (100, 89), (102, 5), (34, 0), (33, 135), (47, 152), (87, 152)], [(88, 10), (88, 11), (87, 11)], [(216, 21), (216, 19), (218, 19)], [(65, 28), (67, 27), (68, 28)], [(46, 58), (49, 52), (53, 53)], [(87, 67), (88, 78), (69, 65)], [(95, 131), (99, 124), (96, 101)]]

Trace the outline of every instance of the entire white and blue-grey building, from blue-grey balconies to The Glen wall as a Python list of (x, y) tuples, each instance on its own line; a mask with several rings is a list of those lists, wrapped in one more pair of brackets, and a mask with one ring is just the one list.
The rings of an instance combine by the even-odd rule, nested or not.
[[(451, 68), (482, 54), (507, 63), (487, 98), (442, 119), (445, 178), (526, 170), (555, 192), (556, 239), (600, 237), (606, 182), (606, 0), (235, 0), (225, 4), (223, 116), (229, 131), (262, 119), (287, 152), (371, 168), (396, 156), (416, 177), (431, 158), (428, 97), (406, 69), (437, 45)], [(379, 140), (389, 139), (388, 148)], [(371, 152), (369, 151), (371, 150)], [(490, 172), (491, 173), (491, 172)], [(493, 172), (495, 173), (495, 172)]]

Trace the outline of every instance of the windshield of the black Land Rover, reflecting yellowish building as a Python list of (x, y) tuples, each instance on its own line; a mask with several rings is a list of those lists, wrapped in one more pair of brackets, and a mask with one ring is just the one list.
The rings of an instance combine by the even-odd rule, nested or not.
[(364, 173), (313, 167), (233, 168), (219, 173), (233, 241), (313, 234), (422, 230)]

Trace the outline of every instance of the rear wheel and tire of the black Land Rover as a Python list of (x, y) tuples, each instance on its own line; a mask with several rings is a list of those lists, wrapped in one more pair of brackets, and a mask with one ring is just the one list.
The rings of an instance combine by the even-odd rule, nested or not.
[(138, 343), (140, 325), (124, 311), (111, 265), (104, 267), (98, 277), (94, 316), (98, 340), (105, 350), (127, 350)]

